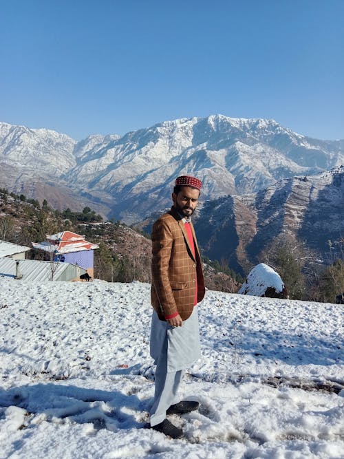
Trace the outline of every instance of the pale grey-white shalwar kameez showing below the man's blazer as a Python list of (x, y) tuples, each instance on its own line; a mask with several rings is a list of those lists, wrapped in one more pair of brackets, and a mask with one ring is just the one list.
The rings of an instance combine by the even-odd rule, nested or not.
[(178, 403), (178, 387), (183, 370), (200, 358), (200, 330), (198, 309), (194, 306), (189, 319), (181, 327), (173, 328), (160, 321), (153, 311), (151, 322), (151, 356), (156, 366), (155, 397), (151, 407), (151, 425), (162, 423), (166, 409)]

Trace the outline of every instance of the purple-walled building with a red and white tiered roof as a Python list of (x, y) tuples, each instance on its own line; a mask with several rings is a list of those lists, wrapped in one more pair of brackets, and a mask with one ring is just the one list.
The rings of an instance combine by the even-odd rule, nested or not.
[(99, 244), (87, 242), (85, 236), (71, 231), (62, 231), (54, 235), (47, 235), (47, 240), (44, 242), (32, 242), (32, 246), (45, 250), (52, 261), (80, 266), (92, 279), (94, 278), (94, 250), (99, 248)]

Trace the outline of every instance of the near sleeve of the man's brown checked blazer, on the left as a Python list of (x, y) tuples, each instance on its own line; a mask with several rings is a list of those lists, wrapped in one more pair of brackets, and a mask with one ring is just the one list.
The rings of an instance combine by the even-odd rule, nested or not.
[(164, 220), (153, 225), (152, 239), (152, 283), (160, 302), (164, 317), (174, 317), (178, 308), (169, 280), (169, 261), (173, 249), (171, 228)]

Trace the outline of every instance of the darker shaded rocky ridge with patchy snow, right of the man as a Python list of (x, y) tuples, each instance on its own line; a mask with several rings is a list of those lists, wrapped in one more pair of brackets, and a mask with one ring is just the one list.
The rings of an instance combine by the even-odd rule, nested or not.
[(344, 166), (317, 175), (287, 178), (257, 193), (204, 203), (197, 222), (204, 255), (235, 269), (256, 263), (281, 233), (293, 233), (324, 254), (344, 235)]

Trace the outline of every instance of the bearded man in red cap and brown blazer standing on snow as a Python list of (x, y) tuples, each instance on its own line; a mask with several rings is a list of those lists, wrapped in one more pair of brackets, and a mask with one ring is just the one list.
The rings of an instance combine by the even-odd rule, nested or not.
[(200, 356), (197, 303), (205, 293), (200, 250), (191, 215), (196, 209), (202, 182), (189, 175), (175, 180), (173, 206), (153, 225), (151, 302), (151, 356), (155, 370), (155, 394), (151, 427), (180, 438), (166, 414), (197, 409), (195, 401), (178, 403), (183, 370)]

